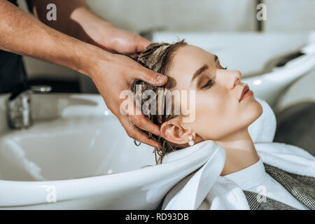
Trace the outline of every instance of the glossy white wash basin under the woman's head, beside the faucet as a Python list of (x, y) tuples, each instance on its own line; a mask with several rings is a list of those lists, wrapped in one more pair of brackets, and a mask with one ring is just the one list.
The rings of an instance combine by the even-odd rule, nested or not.
[(34, 94), (34, 125), (8, 130), (0, 95), (0, 209), (156, 209), (209, 160), (204, 144), (155, 165), (97, 94)]

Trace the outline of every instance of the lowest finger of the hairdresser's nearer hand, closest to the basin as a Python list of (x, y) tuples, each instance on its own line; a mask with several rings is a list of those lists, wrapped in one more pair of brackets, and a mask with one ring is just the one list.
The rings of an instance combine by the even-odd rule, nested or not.
[(148, 139), (148, 136), (139, 130), (136, 126), (132, 125), (129, 118), (127, 116), (119, 116), (118, 117), (120, 123), (125, 128), (128, 136), (132, 139), (135, 139), (137, 141), (140, 141), (141, 143), (148, 144), (153, 147), (159, 147), (159, 144), (157, 141), (154, 141), (153, 139)]

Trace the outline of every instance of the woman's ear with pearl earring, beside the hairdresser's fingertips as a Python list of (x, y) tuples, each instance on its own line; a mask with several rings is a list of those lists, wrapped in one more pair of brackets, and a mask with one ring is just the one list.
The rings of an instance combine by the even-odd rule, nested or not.
[(176, 144), (187, 144), (190, 135), (193, 135), (193, 139), (195, 139), (193, 130), (189, 126), (184, 128), (179, 116), (163, 123), (160, 127), (160, 133), (164, 139)]

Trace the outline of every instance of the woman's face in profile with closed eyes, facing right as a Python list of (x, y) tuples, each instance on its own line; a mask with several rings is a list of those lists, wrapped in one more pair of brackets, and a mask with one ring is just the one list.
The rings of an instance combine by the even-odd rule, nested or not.
[(174, 90), (195, 90), (195, 120), (189, 125), (204, 140), (219, 141), (247, 129), (262, 113), (253, 96), (239, 101), (246, 85), (241, 72), (223, 69), (218, 57), (202, 48), (176, 50), (168, 75), (176, 80)]

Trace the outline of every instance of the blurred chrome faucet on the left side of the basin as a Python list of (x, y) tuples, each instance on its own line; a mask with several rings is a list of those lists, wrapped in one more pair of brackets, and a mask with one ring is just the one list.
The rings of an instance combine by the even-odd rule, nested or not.
[(11, 96), (6, 102), (8, 127), (15, 130), (25, 129), (33, 124), (31, 115), (31, 97), (33, 93), (50, 92), (48, 85), (34, 85), (28, 90)]

